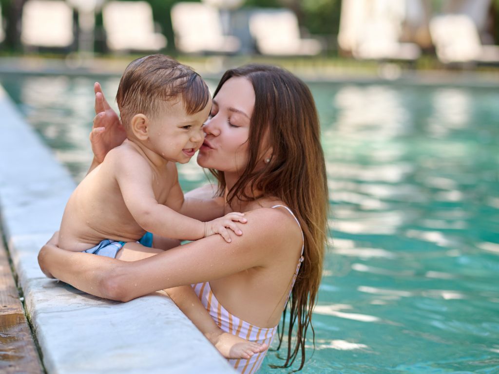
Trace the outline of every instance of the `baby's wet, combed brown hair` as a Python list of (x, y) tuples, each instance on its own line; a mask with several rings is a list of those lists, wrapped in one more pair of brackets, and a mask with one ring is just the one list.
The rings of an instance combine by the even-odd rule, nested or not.
[(136, 114), (154, 117), (160, 113), (164, 101), (178, 100), (182, 100), (187, 114), (195, 114), (208, 104), (210, 91), (190, 66), (163, 54), (130, 62), (116, 94), (121, 122), (127, 129)]

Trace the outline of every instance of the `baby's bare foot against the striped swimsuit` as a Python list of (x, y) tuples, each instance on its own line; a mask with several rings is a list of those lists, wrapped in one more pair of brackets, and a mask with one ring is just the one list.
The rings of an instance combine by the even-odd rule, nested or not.
[(214, 334), (207, 337), (208, 340), (226, 359), (248, 360), (256, 353), (264, 352), (267, 344), (250, 342), (229, 333)]

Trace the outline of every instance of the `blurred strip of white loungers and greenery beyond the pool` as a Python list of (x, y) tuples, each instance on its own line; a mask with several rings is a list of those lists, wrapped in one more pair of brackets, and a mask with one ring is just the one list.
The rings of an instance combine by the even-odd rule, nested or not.
[[(1, 0), (0, 56), (308, 58), (493, 68), (499, 0)], [(372, 66), (364, 64), (360, 66)]]

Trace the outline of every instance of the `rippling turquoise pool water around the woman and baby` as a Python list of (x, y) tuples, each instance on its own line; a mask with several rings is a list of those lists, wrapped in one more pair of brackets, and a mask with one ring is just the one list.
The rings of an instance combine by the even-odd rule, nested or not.
[[(0, 83), (82, 178), (93, 80)], [(111, 97), (118, 78), (101, 83)], [(333, 239), (303, 372), (499, 373), (499, 90), (310, 87)], [(205, 181), (194, 162), (179, 173), (185, 189)], [(279, 362), (269, 353), (260, 373), (287, 373), (266, 365)]]

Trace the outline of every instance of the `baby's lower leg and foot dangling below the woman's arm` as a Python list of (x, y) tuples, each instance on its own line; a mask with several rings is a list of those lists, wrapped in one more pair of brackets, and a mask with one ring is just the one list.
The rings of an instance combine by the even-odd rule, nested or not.
[(268, 348), (266, 344), (250, 342), (221, 330), (191, 286), (174, 287), (165, 291), (226, 359), (248, 360), (255, 353), (263, 352)]

